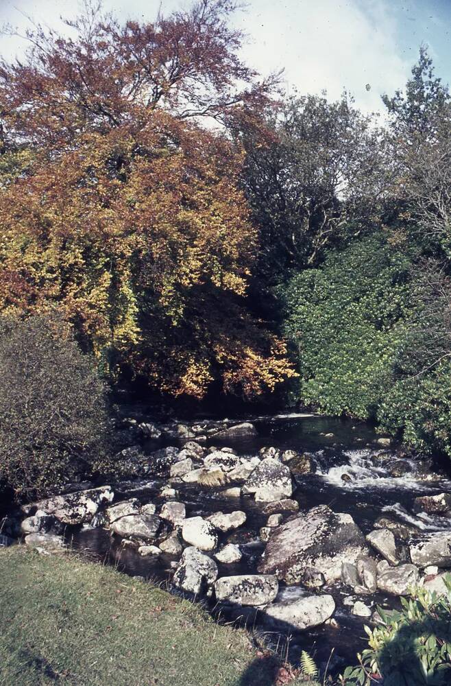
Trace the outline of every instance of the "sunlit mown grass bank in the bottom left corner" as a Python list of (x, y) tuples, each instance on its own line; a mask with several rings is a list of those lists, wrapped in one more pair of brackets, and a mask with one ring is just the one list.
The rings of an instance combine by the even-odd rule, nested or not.
[(274, 683), (244, 630), (114, 569), (12, 546), (0, 579), (1, 686)]

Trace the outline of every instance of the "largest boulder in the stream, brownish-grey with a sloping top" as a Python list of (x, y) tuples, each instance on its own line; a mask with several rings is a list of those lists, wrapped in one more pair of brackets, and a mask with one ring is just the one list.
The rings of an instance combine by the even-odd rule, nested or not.
[(321, 505), (272, 530), (258, 571), (293, 584), (312, 567), (332, 582), (341, 577), (343, 563), (354, 564), (366, 553), (365, 538), (350, 514)]

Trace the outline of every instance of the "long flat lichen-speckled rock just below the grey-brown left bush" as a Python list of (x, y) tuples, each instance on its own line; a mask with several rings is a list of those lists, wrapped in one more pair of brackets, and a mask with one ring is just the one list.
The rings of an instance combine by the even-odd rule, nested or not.
[(53, 514), (64, 524), (86, 524), (97, 514), (99, 507), (110, 503), (114, 493), (110, 486), (55, 495), (35, 504), (37, 510)]

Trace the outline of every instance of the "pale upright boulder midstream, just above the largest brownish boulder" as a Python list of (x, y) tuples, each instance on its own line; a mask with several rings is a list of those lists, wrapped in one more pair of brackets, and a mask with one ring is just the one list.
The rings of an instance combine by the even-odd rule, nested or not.
[(243, 493), (254, 493), (256, 501), (273, 502), (293, 493), (291, 472), (274, 458), (265, 458), (256, 466), (243, 486)]

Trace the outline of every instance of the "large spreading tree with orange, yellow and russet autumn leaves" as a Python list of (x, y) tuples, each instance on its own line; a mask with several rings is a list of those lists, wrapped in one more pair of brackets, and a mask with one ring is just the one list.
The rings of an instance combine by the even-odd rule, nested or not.
[(60, 303), (110, 377), (175, 395), (221, 379), (249, 397), (293, 373), (246, 307), (257, 235), (241, 152), (199, 126), (267, 98), (237, 56), (233, 8), (125, 27), (88, 12), (73, 38), (31, 32), (0, 75), (1, 310)]

